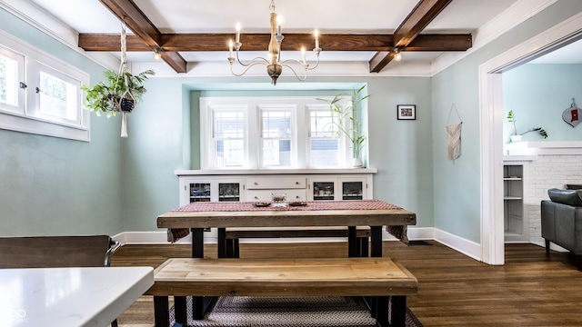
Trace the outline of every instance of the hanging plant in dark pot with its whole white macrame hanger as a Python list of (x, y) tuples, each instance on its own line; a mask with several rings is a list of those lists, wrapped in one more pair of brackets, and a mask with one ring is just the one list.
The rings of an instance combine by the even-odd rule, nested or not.
[(121, 112), (123, 114), (121, 124), (121, 137), (127, 137), (127, 114), (135, 108), (135, 104), (141, 101), (146, 93), (144, 82), (148, 75), (155, 74), (153, 70), (146, 70), (140, 74), (127, 72), (125, 44), (125, 23), (121, 26), (121, 64), (119, 71), (115, 73), (108, 69), (104, 72), (107, 83), (99, 82), (93, 87), (82, 85), (86, 92), (85, 109), (94, 111), (98, 116), (105, 114), (107, 118)]

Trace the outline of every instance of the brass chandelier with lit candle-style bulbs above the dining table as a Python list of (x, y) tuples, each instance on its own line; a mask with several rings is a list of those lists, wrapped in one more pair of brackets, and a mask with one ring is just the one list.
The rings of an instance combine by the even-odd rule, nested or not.
[[(293, 74), (295, 74), (296, 78), (299, 81), (305, 81), (307, 78), (307, 71), (313, 70), (319, 64), (319, 53), (321, 52), (321, 48), (319, 47), (319, 35), (317, 34), (317, 30), (315, 32), (316, 36), (316, 47), (313, 49), (313, 52), (316, 54), (316, 64), (313, 67), (310, 67), (309, 64), (306, 62), (306, 50), (304, 47), (301, 48), (301, 56), (302, 60), (296, 59), (286, 59), (281, 61), (281, 42), (283, 41), (284, 36), (281, 34), (281, 25), (277, 24), (276, 19), (276, 12), (275, 12), (275, 0), (271, 0), (271, 5), (269, 5), (271, 9), (271, 40), (268, 45), (268, 58), (265, 57), (255, 57), (248, 63), (243, 63), (240, 58), (238, 57), (238, 53), (240, 51), (240, 47), (243, 45), (240, 43), (240, 25), (236, 25), (236, 41), (233, 43), (231, 40), (229, 42), (229, 53), (228, 62), (230, 63), (230, 71), (235, 76), (242, 76), (246, 74), (246, 72), (250, 69), (250, 67), (256, 64), (265, 64), (266, 65), (266, 74), (271, 76), (271, 84), (276, 84), (276, 79), (283, 71), (283, 66), (289, 68)], [(234, 49), (233, 49), (234, 48)], [(236, 58), (234, 56), (234, 51), (236, 51)], [(238, 64), (246, 67), (246, 69), (241, 74), (236, 74), (233, 68), (235, 61)], [(296, 66), (294, 68), (293, 66)], [(303, 67), (302, 75), (297, 74), (296, 69), (299, 67)]]

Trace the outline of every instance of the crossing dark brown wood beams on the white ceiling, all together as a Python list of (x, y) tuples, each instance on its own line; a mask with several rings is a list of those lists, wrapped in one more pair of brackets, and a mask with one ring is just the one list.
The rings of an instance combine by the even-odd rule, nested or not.
[[(225, 50), (233, 34), (164, 34), (132, 0), (99, 0), (111, 13), (134, 32), (127, 37), (127, 51), (152, 51), (160, 49), (162, 59), (177, 73), (186, 73), (186, 60), (180, 52)], [(325, 51), (374, 51), (369, 61), (369, 71), (380, 72), (399, 48), (407, 51), (467, 51), (472, 45), (470, 34), (426, 34), (421, 32), (453, 0), (420, 0), (396, 28), (394, 34), (329, 34), (322, 35), (320, 46)], [(458, 0), (457, 0), (458, 1)], [(245, 34), (242, 51), (262, 51), (270, 39), (269, 34)], [(311, 34), (285, 34), (282, 51), (297, 50), (313, 44)], [(120, 48), (119, 35), (80, 34), (79, 47), (85, 51), (115, 51)]]

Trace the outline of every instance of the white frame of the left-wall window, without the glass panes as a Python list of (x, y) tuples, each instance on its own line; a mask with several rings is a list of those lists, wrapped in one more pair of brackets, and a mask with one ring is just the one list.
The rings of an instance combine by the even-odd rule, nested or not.
[[(61, 137), (88, 142), (90, 134), (90, 113), (83, 109), (85, 92), (82, 84), (89, 84), (89, 74), (77, 69), (71, 64), (47, 54), (32, 45), (28, 45), (12, 35), (0, 31), (0, 46), (7, 51), (22, 54), (25, 58), (24, 76), (19, 82), (26, 84), (19, 89), (18, 107), (0, 106), (0, 128), (30, 134)], [(19, 70), (21, 68), (19, 67)], [(76, 119), (63, 120), (54, 116), (40, 114), (38, 110), (39, 96), (36, 87), (40, 87), (40, 72), (45, 71), (78, 87), (76, 94)]]

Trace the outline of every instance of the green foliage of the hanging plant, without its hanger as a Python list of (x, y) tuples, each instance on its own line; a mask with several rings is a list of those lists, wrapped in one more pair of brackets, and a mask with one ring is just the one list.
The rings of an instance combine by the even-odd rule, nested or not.
[[(144, 82), (149, 75), (156, 73), (153, 70), (146, 70), (136, 75), (127, 72), (117, 74), (108, 69), (103, 74), (106, 83), (99, 82), (93, 87), (82, 85), (81, 89), (86, 92), (85, 109), (94, 111), (97, 115), (105, 114), (109, 118), (121, 111), (122, 104), (128, 102), (133, 108), (136, 103), (140, 102), (147, 91)], [(126, 84), (125, 78), (127, 79)]]

